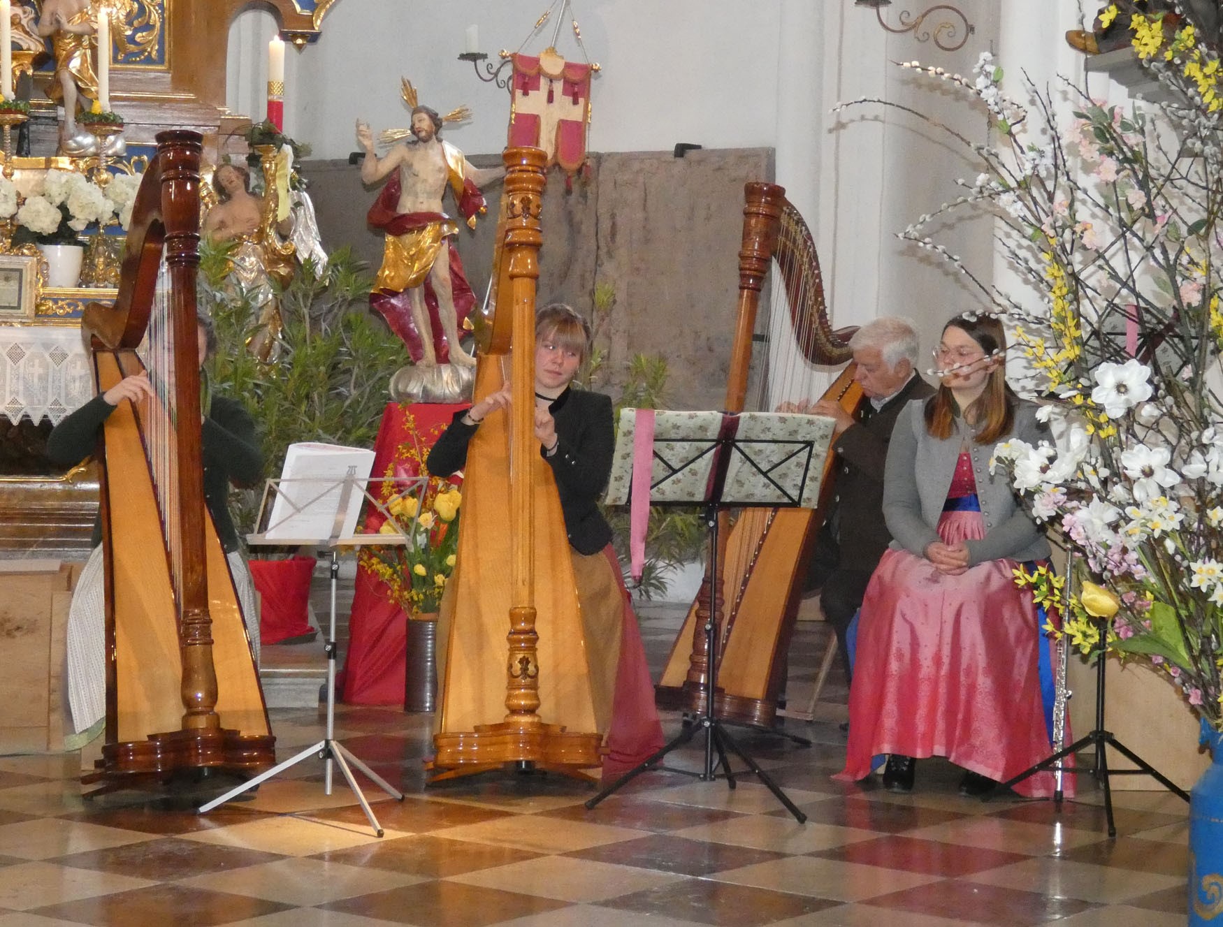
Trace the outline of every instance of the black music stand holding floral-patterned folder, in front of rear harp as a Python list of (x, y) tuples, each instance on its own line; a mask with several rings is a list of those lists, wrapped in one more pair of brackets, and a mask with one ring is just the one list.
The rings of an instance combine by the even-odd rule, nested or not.
[[(610, 504), (623, 503), (629, 495), (630, 476), (626, 470), (631, 471), (631, 467), (626, 467), (625, 461), (632, 459), (636, 444), (636, 421), (631, 415), (635, 411), (621, 412), (613, 478), (608, 490)], [(664, 416), (674, 418), (667, 421)], [(698, 503), (703, 506), (702, 517), (709, 532), (711, 598), (715, 600), (719, 583), (718, 512), (722, 509), (745, 506), (813, 508), (819, 493), (819, 462), (832, 441), (832, 421), (770, 412), (659, 412), (657, 417), (652, 415), (652, 418), (658, 430), (647, 439), (652, 454), (649, 504)], [(657, 435), (664, 432), (664, 424), (670, 428), (665, 440), (660, 440)], [(640, 468), (642, 461), (636, 466)], [(698, 723), (685, 726), (674, 740), (602, 789), (586, 802), (587, 808), (593, 808), (649, 769), (712, 781), (718, 778), (715, 770), (720, 764), (728, 788), (734, 789), (735, 773), (726, 759), (729, 751), (756, 774), (800, 824), (806, 823), (807, 816), (735, 741), (726, 730), (726, 722), (717, 717), (719, 660), (715, 629), (715, 609), (711, 607), (703, 627), (708, 658), (702, 684), (704, 712), (697, 718)], [(704, 763), (700, 773), (657, 766), (668, 753), (692, 740), (697, 730), (704, 731)], [(718, 755), (718, 764), (714, 763), (714, 753)]]

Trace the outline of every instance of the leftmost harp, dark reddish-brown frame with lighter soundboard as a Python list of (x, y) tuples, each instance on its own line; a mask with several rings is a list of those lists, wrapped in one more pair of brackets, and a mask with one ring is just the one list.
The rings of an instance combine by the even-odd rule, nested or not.
[[(274, 741), (225, 553), (204, 505), (196, 271), (201, 136), (158, 135), (114, 308), (82, 328), (99, 391), (148, 371), (102, 438), (106, 729), (103, 788), (180, 769), (254, 773)], [(141, 346), (141, 353), (137, 347)], [(142, 360), (143, 357), (143, 360)]]

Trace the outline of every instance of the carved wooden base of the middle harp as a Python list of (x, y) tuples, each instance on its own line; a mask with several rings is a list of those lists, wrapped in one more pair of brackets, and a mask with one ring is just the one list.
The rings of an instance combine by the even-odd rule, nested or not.
[(434, 735), (437, 755), (426, 768), (435, 773), (430, 783), (475, 775), (506, 763), (533, 763), (537, 769), (594, 781), (582, 770), (603, 762), (602, 742), (599, 734), (569, 733), (554, 724), (479, 724), (472, 731)]

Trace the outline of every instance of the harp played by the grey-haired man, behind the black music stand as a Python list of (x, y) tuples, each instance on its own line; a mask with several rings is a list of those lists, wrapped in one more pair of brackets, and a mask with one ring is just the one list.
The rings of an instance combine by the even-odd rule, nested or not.
[[(815, 241), (785, 191), (772, 183), (745, 187), (744, 237), (739, 252), (739, 302), (726, 383), (725, 408), (744, 411), (758, 328), (761, 290), (770, 267), (784, 292), (785, 319), (769, 319), (768, 330), (784, 334), (801, 355), (790, 367), (840, 364), (851, 360), (849, 338), (856, 329), (833, 330), (824, 303)], [(783, 351), (784, 353), (784, 351)], [(757, 367), (762, 364), (757, 363)], [(862, 390), (850, 364), (823, 394), (855, 413)], [(719, 717), (757, 726), (772, 725), (785, 684), (786, 652), (802, 593), (801, 570), (815, 545), (832, 498), (834, 455), (824, 462), (816, 509), (747, 509), (729, 531), (720, 531), (720, 588), (708, 574), (668, 657), (657, 687), (658, 703), (690, 712), (704, 711), (708, 653), (703, 627), (713, 609), (718, 638)], [(719, 517), (725, 519), (723, 514)]]

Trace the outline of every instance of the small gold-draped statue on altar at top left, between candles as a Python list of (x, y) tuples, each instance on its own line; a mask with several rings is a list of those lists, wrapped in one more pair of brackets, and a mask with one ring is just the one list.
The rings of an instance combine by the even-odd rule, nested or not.
[(97, 154), (98, 139), (89, 132), (77, 130), (76, 121), (79, 99), (98, 99), (98, 77), (93, 70), (94, 21), (89, 0), (44, 0), (38, 34), (51, 37), (55, 54), (55, 78), (48, 95), (64, 103), (60, 150), (68, 155)]

